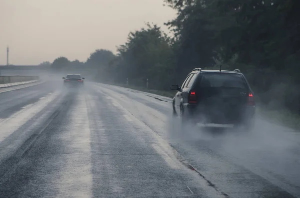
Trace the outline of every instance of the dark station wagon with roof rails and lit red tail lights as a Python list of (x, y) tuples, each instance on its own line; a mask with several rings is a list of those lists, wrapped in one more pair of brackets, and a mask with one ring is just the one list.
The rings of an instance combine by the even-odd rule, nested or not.
[(178, 92), (173, 98), (173, 115), (182, 123), (233, 124), (254, 126), (254, 94), (238, 69), (202, 70), (195, 68), (182, 85), (172, 85)]

